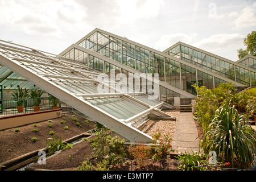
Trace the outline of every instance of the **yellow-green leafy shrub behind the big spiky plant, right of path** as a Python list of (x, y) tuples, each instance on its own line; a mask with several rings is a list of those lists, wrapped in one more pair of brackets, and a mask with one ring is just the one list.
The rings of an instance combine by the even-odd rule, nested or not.
[(243, 90), (238, 93), (232, 83), (220, 84), (217, 88), (207, 89), (205, 86), (195, 85), (197, 98), (195, 105), (195, 119), (206, 130), (214, 118), (215, 111), (228, 102), (235, 105), (238, 111), (246, 111), (247, 102), (253, 94)]

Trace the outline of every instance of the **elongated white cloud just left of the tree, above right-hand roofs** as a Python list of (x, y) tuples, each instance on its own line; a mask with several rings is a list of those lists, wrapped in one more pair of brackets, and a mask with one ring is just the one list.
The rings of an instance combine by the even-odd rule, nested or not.
[(195, 43), (193, 46), (212, 51), (215, 49), (227, 48), (236, 44), (241, 44), (243, 35), (241, 34), (216, 34), (211, 35)]

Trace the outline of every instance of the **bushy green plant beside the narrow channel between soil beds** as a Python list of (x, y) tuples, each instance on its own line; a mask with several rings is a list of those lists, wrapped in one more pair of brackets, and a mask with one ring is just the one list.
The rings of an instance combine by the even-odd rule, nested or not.
[(65, 150), (73, 147), (73, 144), (68, 144), (68, 143), (62, 143), (62, 139), (57, 139), (57, 136), (53, 138), (47, 138), (46, 144), (48, 147), (49, 155), (52, 155), (54, 152), (59, 151), (59, 150)]

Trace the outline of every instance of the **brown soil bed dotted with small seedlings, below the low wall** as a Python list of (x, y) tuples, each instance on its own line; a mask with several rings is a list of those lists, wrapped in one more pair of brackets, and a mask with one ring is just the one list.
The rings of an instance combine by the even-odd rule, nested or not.
[[(47, 138), (51, 138), (54, 135), (50, 135), (49, 132), (53, 131), (57, 138), (67, 140), (92, 130), (95, 127), (94, 122), (85, 123), (86, 120), (79, 115), (76, 115), (77, 121), (73, 121), (73, 113), (63, 113), (62, 117), (52, 119), (52, 122), (42, 121), (36, 123), (36, 127), (33, 124), (18, 127), (19, 131), (15, 129), (6, 129), (0, 131), (0, 163), (6, 162), (14, 158), (18, 158), (28, 152), (40, 150), (46, 147)], [(65, 117), (65, 119), (63, 119)], [(66, 121), (65, 124), (61, 124), (61, 121)], [(76, 122), (80, 123), (80, 126), (76, 125)], [(48, 127), (51, 123), (53, 127)], [(68, 130), (64, 127), (68, 126)], [(37, 129), (38, 132), (32, 132), (31, 130)], [(36, 142), (32, 142), (32, 138), (36, 137)]]

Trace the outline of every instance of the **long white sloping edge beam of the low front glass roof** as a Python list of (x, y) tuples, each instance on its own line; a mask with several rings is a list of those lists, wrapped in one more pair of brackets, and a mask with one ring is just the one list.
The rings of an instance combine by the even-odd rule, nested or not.
[(131, 126), (126, 125), (126, 123), (119, 121), (117, 118), (113, 117), (111, 114), (100, 110), (98, 107), (93, 106), (87, 101), (76, 97), (74, 94), (66, 92), (60, 86), (55, 85), (48, 79), (31, 72), (24, 65), (21, 65), (18, 61), (10, 60), (5, 56), (0, 55), (0, 63), (11, 69), (13, 72), (18, 73), (20, 76), (26, 78), (28, 81), (33, 82), (38, 85), (41, 89), (45, 90), (49, 94), (59, 98), (59, 100), (67, 103), (73, 108), (79, 110), (81, 113), (88, 115), (88, 117), (93, 118), (95, 121), (101, 123), (102, 125), (114, 130), (116, 133), (124, 138), (130, 140), (130, 142), (146, 142), (151, 143), (152, 137), (144, 134)]

